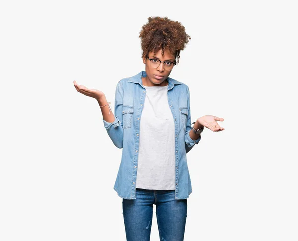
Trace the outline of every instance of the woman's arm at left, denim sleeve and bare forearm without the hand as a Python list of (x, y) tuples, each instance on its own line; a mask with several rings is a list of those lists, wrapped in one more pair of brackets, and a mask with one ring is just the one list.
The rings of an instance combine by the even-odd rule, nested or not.
[[(103, 106), (107, 104), (107, 101), (105, 98), (103, 98), (103, 100), (98, 101), (98, 103), (100, 106)], [(122, 105), (123, 86), (119, 81), (115, 92), (115, 116), (112, 111), (110, 112), (108, 105), (101, 107), (104, 127), (106, 128), (108, 135), (113, 141), (114, 145), (118, 148), (123, 147)]]

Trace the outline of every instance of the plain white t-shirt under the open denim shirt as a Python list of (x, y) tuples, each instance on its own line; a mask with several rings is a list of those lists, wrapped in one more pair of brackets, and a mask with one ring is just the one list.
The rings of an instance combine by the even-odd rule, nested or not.
[(175, 123), (166, 86), (144, 86), (136, 188), (175, 190)]

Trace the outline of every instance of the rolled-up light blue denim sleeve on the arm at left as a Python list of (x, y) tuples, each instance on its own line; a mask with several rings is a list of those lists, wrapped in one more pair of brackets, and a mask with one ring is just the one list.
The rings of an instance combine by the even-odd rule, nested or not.
[(122, 124), (122, 105), (123, 105), (123, 85), (121, 81), (118, 82), (115, 92), (115, 110), (114, 122), (110, 123), (103, 120), (104, 127), (106, 128), (109, 137), (114, 145), (118, 148), (123, 147), (123, 124)]

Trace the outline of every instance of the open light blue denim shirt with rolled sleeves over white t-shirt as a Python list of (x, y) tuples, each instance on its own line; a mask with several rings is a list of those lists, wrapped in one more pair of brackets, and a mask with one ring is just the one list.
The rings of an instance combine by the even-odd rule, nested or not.
[[(118, 196), (125, 199), (136, 199), (139, 130), (146, 95), (141, 76), (145, 77), (146, 72), (141, 71), (118, 82), (115, 93), (115, 121), (110, 123), (102, 119), (114, 145), (123, 148), (114, 190)], [(175, 199), (185, 199), (192, 192), (186, 153), (194, 144), (198, 144), (201, 136), (197, 140), (192, 140), (189, 136), (191, 119), (188, 86), (170, 77), (167, 80), (168, 102), (174, 117), (176, 134)]]

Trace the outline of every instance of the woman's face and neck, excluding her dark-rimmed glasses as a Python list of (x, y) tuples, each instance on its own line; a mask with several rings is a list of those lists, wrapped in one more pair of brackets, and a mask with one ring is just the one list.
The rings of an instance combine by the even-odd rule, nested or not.
[[(171, 54), (167, 50), (164, 52), (164, 56), (161, 54), (161, 49), (156, 52), (156, 55), (154, 57), (154, 52), (151, 51), (148, 53), (148, 56), (150, 59), (154, 58), (160, 61), (170, 61), (170, 62), (175, 62), (175, 55)], [(145, 66), (145, 71), (146, 71), (146, 77), (142, 78), (143, 80), (143, 85), (145, 86), (166, 86), (168, 85), (166, 79), (170, 75), (171, 71), (167, 71), (164, 69), (164, 64), (160, 63), (160, 65), (157, 68), (152, 68), (150, 66), (150, 60), (146, 58), (146, 56), (143, 57), (143, 63), (146, 65)], [(158, 77), (161, 76), (161, 77)]]

